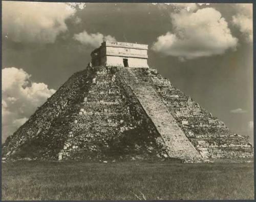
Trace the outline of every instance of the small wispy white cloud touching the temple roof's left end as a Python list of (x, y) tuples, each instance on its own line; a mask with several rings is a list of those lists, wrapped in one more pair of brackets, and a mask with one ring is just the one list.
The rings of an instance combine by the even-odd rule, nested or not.
[(91, 46), (94, 48), (99, 47), (101, 42), (103, 42), (103, 40), (116, 41), (115, 37), (113, 36), (110, 36), (110, 35), (104, 36), (99, 32), (96, 34), (88, 34), (87, 31), (83, 31), (79, 34), (74, 34), (73, 38), (75, 40), (78, 40), (82, 44), (85, 44), (87, 46)]

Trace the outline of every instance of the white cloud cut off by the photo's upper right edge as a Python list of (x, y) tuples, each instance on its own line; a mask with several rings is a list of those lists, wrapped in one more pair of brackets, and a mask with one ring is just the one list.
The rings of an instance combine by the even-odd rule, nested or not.
[(252, 4), (236, 4), (237, 14), (232, 16), (232, 23), (237, 26), (245, 39), (251, 42), (252, 33)]

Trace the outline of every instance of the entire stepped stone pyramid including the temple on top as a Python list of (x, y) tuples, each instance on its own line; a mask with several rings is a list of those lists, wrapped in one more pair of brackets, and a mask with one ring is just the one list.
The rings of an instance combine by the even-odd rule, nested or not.
[(148, 68), (144, 50), (137, 43), (103, 42), (92, 63), (8, 137), (4, 159), (202, 162), (253, 156), (246, 138)]

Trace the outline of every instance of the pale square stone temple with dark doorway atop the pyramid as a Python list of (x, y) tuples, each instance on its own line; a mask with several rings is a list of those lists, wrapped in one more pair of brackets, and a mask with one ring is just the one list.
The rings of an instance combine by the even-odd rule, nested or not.
[(92, 65), (148, 68), (147, 44), (103, 41), (91, 53)]

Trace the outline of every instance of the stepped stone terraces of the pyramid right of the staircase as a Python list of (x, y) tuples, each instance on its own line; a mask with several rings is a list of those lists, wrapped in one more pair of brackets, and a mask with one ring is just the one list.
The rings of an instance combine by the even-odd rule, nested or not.
[(244, 137), (231, 132), (222, 121), (172, 86), (156, 70), (148, 75), (159, 97), (204, 158), (253, 156), (252, 146)]

